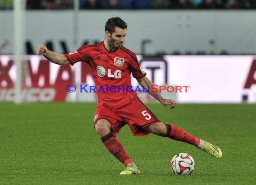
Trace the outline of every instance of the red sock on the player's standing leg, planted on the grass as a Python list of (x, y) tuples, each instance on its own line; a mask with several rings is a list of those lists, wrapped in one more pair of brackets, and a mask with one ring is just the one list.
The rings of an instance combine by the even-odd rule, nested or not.
[(112, 155), (116, 157), (121, 163), (127, 165), (128, 163), (132, 163), (132, 160), (124, 151), (123, 145), (112, 136), (111, 133), (102, 137), (102, 142), (106, 146), (107, 150), (110, 151)]

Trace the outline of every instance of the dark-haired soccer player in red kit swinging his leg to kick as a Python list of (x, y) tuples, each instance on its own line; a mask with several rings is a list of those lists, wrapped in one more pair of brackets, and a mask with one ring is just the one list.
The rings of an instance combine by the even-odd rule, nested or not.
[[(105, 40), (101, 43), (84, 45), (69, 54), (55, 53), (44, 45), (38, 45), (36, 53), (60, 65), (88, 63), (93, 71), (98, 92), (94, 127), (107, 150), (126, 166), (120, 175), (141, 173), (125, 152), (123, 145), (116, 139), (125, 124), (129, 125), (135, 136), (154, 133), (189, 143), (215, 158), (221, 158), (222, 152), (218, 146), (194, 137), (176, 125), (162, 123), (140, 101), (136, 93), (126, 90), (126, 87), (131, 86), (131, 73), (146, 91), (147, 87), (152, 85), (146, 77), (146, 72), (139, 66), (136, 54), (123, 46), (126, 35), (127, 24), (121, 18), (110, 18), (105, 25)], [(115, 86), (117, 89), (111, 88), (111, 91), (107, 91), (110, 86)], [(158, 92), (148, 93), (162, 105), (175, 108), (175, 101), (164, 99)]]

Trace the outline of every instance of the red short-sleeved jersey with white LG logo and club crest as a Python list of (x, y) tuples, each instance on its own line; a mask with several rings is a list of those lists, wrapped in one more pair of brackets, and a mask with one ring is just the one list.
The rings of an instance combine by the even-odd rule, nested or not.
[(104, 43), (88, 44), (76, 52), (65, 55), (73, 66), (76, 62), (86, 62), (93, 71), (93, 79), (99, 103), (115, 109), (128, 104), (137, 94), (131, 92), (131, 73), (134, 78), (146, 76), (136, 54), (123, 45), (109, 52)]

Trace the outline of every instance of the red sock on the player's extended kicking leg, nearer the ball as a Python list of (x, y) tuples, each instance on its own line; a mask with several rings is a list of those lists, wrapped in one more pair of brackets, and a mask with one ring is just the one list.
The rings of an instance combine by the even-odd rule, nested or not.
[(169, 137), (171, 139), (177, 140), (177, 141), (183, 141), (186, 143), (189, 143), (191, 145), (198, 146), (200, 143), (200, 139), (197, 137), (194, 137), (190, 133), (182, 130), (181, 128), (177, 127), (176, 125), (171, 124), (165, 124), (167, 128), (167, 135), (166, 137)]

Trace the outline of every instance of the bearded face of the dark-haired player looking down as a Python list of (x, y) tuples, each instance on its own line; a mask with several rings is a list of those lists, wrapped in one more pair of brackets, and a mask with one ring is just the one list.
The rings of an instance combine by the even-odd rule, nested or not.
[(108, 44), (110, 48), (119, 48), (124, 43), (124, 37), (126, 35), (126, 29), (115, 27), (115, 32), (113, 32), (112, 35), (110, 35), (110, 33), (108, 34)]

